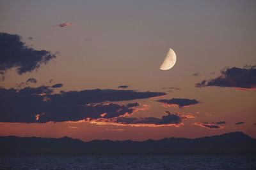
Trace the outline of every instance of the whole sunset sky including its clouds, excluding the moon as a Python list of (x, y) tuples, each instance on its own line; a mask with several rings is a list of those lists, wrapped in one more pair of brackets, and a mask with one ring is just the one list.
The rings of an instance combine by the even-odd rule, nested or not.
[(0, 136), (256, 138), (255, 1), (1, 0), (0, 15)]

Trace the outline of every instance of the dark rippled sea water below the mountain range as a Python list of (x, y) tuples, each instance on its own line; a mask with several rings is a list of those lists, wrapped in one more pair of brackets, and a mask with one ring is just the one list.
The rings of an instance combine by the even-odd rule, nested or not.
[(252, 155), (13, 156), (0, 169), (256, 169)]

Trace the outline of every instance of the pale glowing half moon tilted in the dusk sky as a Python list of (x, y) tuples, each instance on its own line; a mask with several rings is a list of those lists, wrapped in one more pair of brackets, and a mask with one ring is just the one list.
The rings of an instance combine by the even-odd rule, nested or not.
[(175, 65), (176, 60), (177, 60), (176, 54), (172, 50), (172, 48), (170, 48), (159, 69), (161, 70), (171, 69)]

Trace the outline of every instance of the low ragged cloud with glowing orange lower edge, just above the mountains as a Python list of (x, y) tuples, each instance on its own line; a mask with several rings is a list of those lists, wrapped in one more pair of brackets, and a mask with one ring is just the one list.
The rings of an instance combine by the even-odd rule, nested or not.
[(164, 115), (161, 118), (156, 117), (143, 117), (143, 118), (135, 118), (135, 117), (117, 117), (117, 118), (99, 118), (99, 119), (90, 119), (87, 122), (92, 124), (100, 124), (100, 125), (129, 125), (136, 127), (159, 127), (159, 126), (175, 126), (180, 127), (183, 125), (182, 120), (186, 118), (194, 118), (193, 115), (182, 115), (178, 113), (170, 113), (166, 111), (167, 115)]

